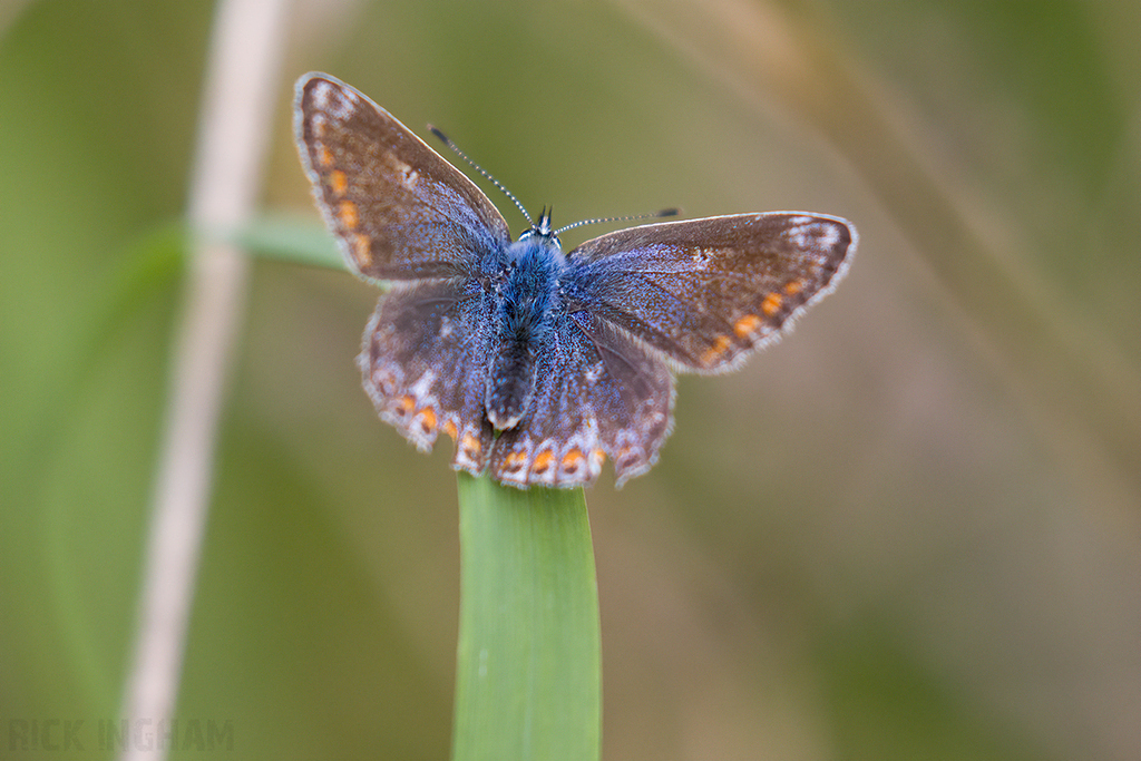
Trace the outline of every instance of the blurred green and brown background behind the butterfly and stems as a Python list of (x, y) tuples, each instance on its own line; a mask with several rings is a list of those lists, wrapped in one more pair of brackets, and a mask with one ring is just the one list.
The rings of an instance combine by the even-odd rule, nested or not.
[[(113, 755), (212, 13), (0, 6), (0, 758), (63, 755), (32, 721)], [(557, 224), (860, 230), (588, 493), (604, 758), (1141, 758), (1134, 0), (308, 0), (285, 43), (267, 212), (317, 222), (289, 102), (321, 70)], [(454, 477), (359, 388), (375, 298), (254, 266), (177, 711), (233, 750), (172, 758), (447, 755)]]

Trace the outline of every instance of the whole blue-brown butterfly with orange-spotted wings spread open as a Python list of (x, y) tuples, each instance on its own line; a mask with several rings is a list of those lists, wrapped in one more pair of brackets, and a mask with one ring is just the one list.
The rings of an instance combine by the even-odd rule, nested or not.
[(388, 286), (357, 358), (365, 390), (418, 448), (444, 434), (453, 468), (502, 484), (581, 486), (606, 460), (618, 486), (646, 472), (673, 371), (737, 367), (856, 250), (847, 220), (801, 211), (646, 224), (564, 253), (544, 209), (512, 241), (467, 176), (358, 90), (307, 74), (296, 98), (317, 205), (349, 268)]

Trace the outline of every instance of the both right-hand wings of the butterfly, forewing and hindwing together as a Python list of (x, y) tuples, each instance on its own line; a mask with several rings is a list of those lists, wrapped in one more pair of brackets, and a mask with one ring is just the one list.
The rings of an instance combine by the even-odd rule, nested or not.
[(768, 213), (647, 225), (568, 256), (531, 412), (494, 443), (516, 486), (578, 486), (606, 458), (617, 484), (657, 460), (677, 367), (717, 372), (774, 340), (842, 276), (856, 232), (833, 217)]

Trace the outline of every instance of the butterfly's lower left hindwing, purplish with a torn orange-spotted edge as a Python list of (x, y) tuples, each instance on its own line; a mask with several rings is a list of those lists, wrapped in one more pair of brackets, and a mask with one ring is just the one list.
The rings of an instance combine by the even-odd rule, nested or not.
[(455, 443), (453, 464), (475, 475), (491, 456), (484, 414), (485, 325), (493, 305), (474, 281), (399, 283), (380, 298), (357, 358), (382, 420), (419, 450), (440, 431)]

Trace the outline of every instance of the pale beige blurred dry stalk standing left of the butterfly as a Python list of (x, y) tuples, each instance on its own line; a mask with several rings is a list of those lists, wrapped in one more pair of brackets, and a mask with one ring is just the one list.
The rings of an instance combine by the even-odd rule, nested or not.
[[(178, 697), (186, 628), (226, 378), (241, 331), (249, 264), (217, 240), (252, 213), (281, 92), (286, 0), (220, 0), (205, 76), (189, 188), (194, 230), (170, 375), (151, 525), (144, 556), (135, 651), (123, 715), (169, 722)], [(161, 759), (163, 744), (130, 743), (123, 759)]]

